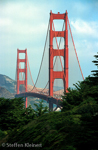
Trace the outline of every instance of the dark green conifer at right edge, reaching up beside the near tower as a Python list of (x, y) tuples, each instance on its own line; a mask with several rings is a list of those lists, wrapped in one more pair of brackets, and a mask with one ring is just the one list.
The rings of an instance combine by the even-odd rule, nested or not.
[[(98, 55), (94, 56), (98, 59)], [(98, 60), (93, 61), (98, 66)], [(71, 110), (81, 103), (98, 104), (98, 70), (92, 71), (94, 74), (88, 76), (84, 81), (74, 84), (75, 89), (68, 88), (68, 92), (62, 96), (62, 111)]]

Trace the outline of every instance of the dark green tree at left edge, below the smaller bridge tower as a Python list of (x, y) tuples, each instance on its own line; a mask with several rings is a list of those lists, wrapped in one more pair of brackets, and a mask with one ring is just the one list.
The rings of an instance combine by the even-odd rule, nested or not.
[(0, 129), (19, 128), (34, 118), (34, 110), (24, 107), (22, 98), (0, 98)]

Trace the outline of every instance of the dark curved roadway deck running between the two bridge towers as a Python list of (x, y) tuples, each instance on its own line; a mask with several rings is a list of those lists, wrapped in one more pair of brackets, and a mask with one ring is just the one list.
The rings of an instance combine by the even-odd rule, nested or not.
[(61, 99), (57, 99), (54, 97), (50, 97), (49, 95), (41, 94), (41, 93), (34, 93), (34, 92), (25, 92), (16, 94), (15, 97), (37, 97), (43, 100), (46, 100), (47, 103), (52, 102), (53, 104), (56, 104), (57, 106), (60, 106), (59, 102), (61, 102)]

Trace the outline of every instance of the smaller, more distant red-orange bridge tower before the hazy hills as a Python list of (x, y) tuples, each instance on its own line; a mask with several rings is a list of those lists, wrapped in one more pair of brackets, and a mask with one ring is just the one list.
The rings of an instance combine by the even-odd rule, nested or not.
[[(20, 59), (19, 58), (19, 53), (25, 53), (25, 59)], [(19, 67), (19, 63), (24, 62), (25, 63), (25, 68), (21, 69)], [(25, 80), (20, 80), (19, 79), (19, 74), (24, 72), (25, 74)], [(20, 85), (23, 84), (25, 86), (25, 92), (27, 92), (27, 49), (25, 50), (19, 50), (17, 49), (17, 94), (19, 94), (19, 87)], [(27, 97), (25, 97), (25, 107), (27, 108)]]

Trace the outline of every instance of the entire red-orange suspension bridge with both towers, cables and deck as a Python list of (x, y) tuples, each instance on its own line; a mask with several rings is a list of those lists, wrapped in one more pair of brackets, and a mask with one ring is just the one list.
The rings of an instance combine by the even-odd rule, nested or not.
[[(61, 31), (55, 30), (54, 20), (64, 20)], [(25, 54), (25, 58), (21, 59), (20, 54)], [(59, 102), (61, 101), (61, 95), (63, 95), (64, 91), (67, 92), (69, 83), (72, 82), (72, 79), (72, 83), (75, 83), (74, 77), (76, 81), (79, 80), (79, 74), (76, 70), (75, 62), (77, 63), (81, 79), (83, 80), (84, 77), (74, 44), (71, 27), (68, 19), (68, 13), (66, 11), (63, 14), (60, 14), (59, 12), (57, 14), (54, 14), (52, 13), (52, 11), (50, 11), (50, 19), (48, 23), (42, 61), (35, 83), (33, 81), (30, 71), (27, 49), (17, 49), (17, 94), (15, 95), (15, 97), (25, 97), (26, 108), (27, 97), (29, 96), (46, 100), (49, 103), (49, 109), (51, 110), (53, 110), (53, 104), (56, 104), (57, 108), (60, 107)], [(21, 63), (24, 63), (24, 68), (21, 67)], [(42, 67), (43, 64), (48, 64), (48, 66)], [(74, 71), (74, 73), (72, 72), (72, 70)], [(33, 85), (31, 89), (28, 88), (28, 72), (30, 73), (30, 78), (32, 80)], [(44, 72), (42, 76), (41, 72)], [(48, 76), (47, 81), (45, 80), (46, 74)], [(39, 86), (37, 85), (40, 76), (40, 80), (42, 82), (39, 85), (40, 87), (42, 86), (43, 82), (46, 81), (45, 86), (43, 88), (39, 88)], [(56, 82), (58, 81), (58, 79), (61, 79), (63, 81), (63, 88), (55, 90), (55, 88), (57, 87)], [(59, 86), (61, 85), (60, 82), (58, 84)], [(24, 91), (22, 92), (20, 92), (20, 85), (24, 85)]]

